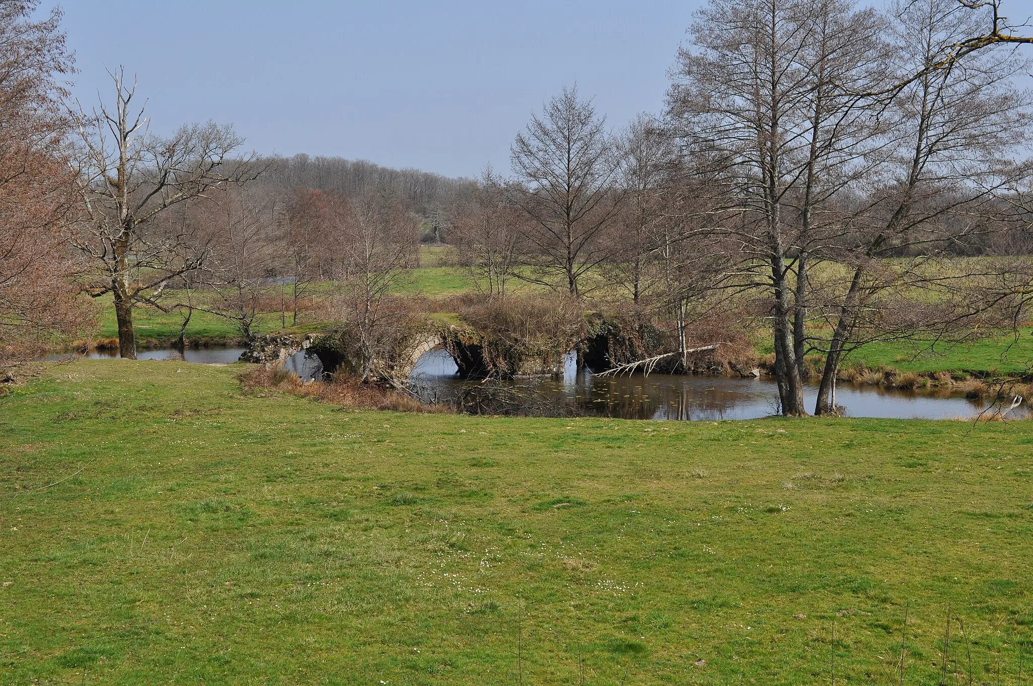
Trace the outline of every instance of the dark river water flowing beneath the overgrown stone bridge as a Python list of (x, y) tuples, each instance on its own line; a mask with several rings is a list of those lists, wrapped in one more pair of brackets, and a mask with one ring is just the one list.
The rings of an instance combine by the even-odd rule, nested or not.
[[(185, 361), (201, 365), (226, 365), (241, 356), (243, 348), (188, 348), (183, 354), (171, 349), (140, 350), (139, 360)], [(52, 355), (60, 358), (68, 355)], [(97, 351), (90, 358), (118, 357), (118, 352)], [(299, 352), (285, 367), (303, 379), (318, 378), (322, 365)], [(410, 381), (425, 401), (452, 403), (464, 391), (479, 386), (456, 376), (456, 363), (444, 350), (432, 350), (420, 357)], [(596, 376), (577, 371), (573, 355), (567, 360), (562, 379), (518, 380), (511, 384), (495, 382), (496, 387), (530, 392), (552, 410), (577, 414), (613, 416), (628, 419), (715, 420), (753, 419), (774, 414), (778, 387), (768, 378), (741, 379), (725, 376)], [(808, 408), (814, 407), (817, 386), (805, 392)], [(848, 416), (952, 419), (971, 418), (985, 409), (987, 403), (968, 400), (961, 394), (942, 389), (896, 391), (881, 386), (842, 383), (836, 388), (836, 401)], [(531, 410), (529, 413), (534, 413)], [(1028, 417), (1025, 407), (1009, 417)]]

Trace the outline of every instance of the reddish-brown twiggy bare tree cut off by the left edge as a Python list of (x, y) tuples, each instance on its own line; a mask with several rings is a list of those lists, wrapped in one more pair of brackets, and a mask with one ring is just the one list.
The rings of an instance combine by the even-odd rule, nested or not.
[(89, 321), (71, 282), (81, 266), (67, 250), (77, 197), (60, 79), (72, 59), (60, 11), (37, 20), (38, 5), (0, 3), (0, 381)]

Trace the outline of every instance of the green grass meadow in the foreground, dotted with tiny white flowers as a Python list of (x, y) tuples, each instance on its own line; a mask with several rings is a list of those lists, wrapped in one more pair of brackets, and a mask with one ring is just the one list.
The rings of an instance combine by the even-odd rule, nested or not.
[(0, 684), (886, 683), (906, 603), (905, 683), (947, 603), (976, 681), (1033, 655), (1033, 425), (351, 412), (239, 368), (0, 399)]

